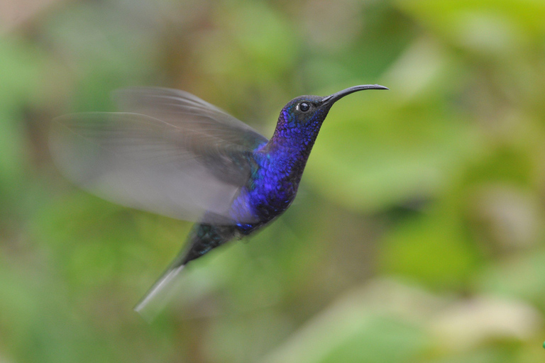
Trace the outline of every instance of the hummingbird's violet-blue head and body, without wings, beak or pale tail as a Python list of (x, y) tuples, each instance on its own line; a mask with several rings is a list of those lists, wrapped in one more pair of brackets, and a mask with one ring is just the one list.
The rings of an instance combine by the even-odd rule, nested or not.
[[(285, 106), (272, 138), (248, 156), (252, 165), (251, 178), (233, 201), (233, 220), (225, 224), (195, 225), (189, 234), (189, 250), (180, 252), (176, 264), (187, 264), (233, 238), (243, 238), (287, 210), (295, 199), (312, 146), (331, 107), (321, 108), (306, 120), (304, 113), (297, 111), (297, 106), (302, 101), (317, 103), (320, 99), (301, 96)], [(248, 207), (256, 221), (240, 222), (238, 211), (246, 211)]]

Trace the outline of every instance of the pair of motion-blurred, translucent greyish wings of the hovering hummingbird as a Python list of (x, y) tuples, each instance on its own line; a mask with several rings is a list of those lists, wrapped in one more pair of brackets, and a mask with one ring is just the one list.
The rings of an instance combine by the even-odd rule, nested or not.
[[(141, 113), (79, 113), (55, 120), (51, 149), (67, 177), (105, 199), (184, 220), (218, 223), (267, 139), (195, 96), (121, 91)], [(251, 222), (249, 211), (241, 221)]]

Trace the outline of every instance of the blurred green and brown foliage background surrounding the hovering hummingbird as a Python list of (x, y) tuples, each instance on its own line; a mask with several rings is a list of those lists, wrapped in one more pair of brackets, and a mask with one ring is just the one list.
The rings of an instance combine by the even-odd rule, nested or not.
[[(1, 0), (0, 362), (532, 363), (545, 350), (545, 2)], [(270, 136), (332, 109), (294, 205), (132, 307), (190, 223), (86, 194), (55, 116), (190, 91)]]

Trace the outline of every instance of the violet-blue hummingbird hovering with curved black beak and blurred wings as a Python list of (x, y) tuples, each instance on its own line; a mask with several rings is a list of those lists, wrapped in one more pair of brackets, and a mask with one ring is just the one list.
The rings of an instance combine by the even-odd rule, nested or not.
[(197, 222), (134, 308), (153, 317), (189, 262), (287, 210), (331, 106), (365, 89), (387, 87), (365, 84), (292, 99), (270, 140), (186, 91), (121, 89), (114, 93), (119, 112), (56, 118), (50, 148), (65, 176), (92, 194)]

